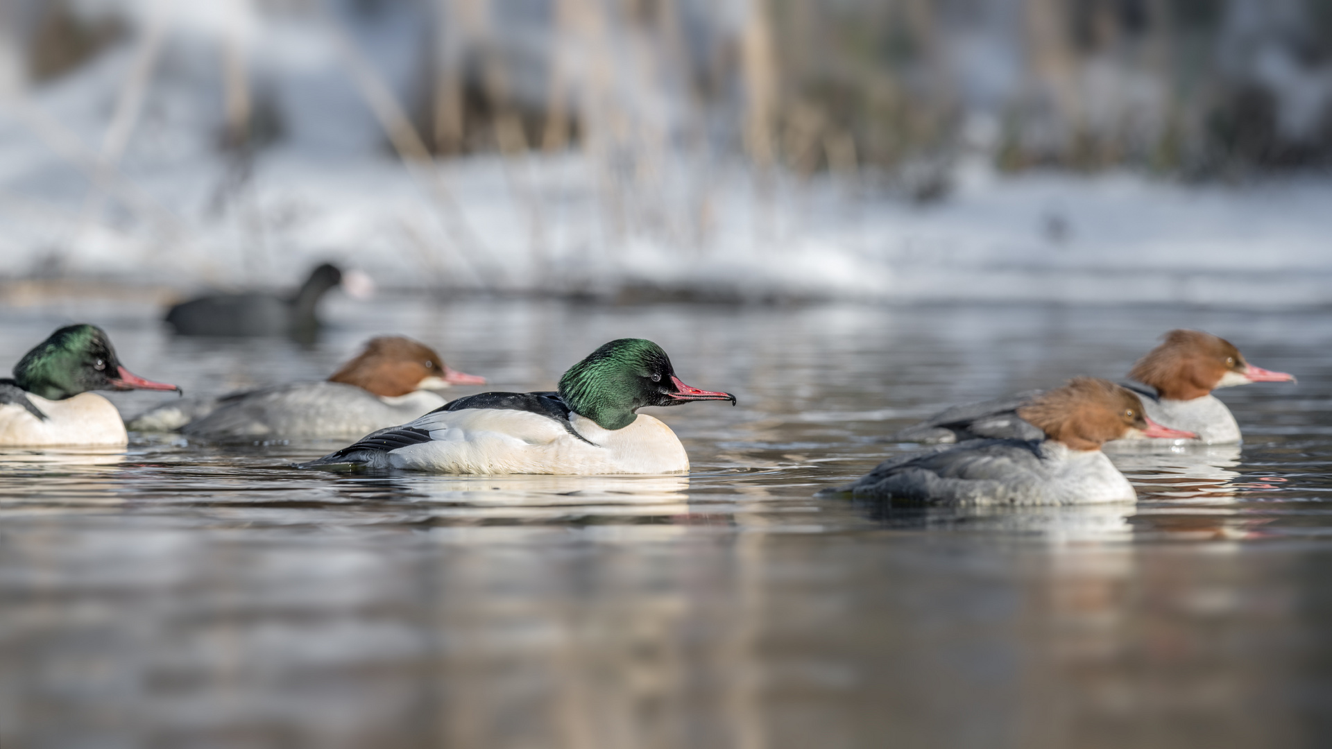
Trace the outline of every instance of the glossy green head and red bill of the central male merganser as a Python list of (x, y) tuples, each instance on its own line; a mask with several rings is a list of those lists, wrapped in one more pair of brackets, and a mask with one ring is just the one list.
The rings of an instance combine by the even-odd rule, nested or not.
[(670, 357), (643, 339), (618, 339), (574, 364), (559, 378), (559, 396), (575, 413), (603, 429), (623, 429), (645, 405), (731, 401), (735, 396), (699, 390), (679, 381)]

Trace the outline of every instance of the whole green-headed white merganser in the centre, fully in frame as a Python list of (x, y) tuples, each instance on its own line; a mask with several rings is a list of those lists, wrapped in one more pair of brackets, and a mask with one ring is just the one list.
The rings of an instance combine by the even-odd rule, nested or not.
[(559, 378), (558, 392), (481, 393), (306, 462), (434, 473), (683, 473), (689, 456), (647, 405), (729, 400), (679, 381), (666, 352), (619, 339)]

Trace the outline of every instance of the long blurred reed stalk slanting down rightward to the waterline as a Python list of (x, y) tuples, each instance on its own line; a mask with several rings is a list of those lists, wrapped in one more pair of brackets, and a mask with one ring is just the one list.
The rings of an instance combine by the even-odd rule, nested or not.
[(409, 173), (416, 176), (429, 188), (430, 195), (434, 197), (436, 204), (441, 209), (445, 231), (454, 241), (453, 245), (449, 245), (453, 251), (452, 255), (457, 259), (458, 264), (466, 269), (468, 275), (476, 279), (482, 287), (498, 288), (500, 281), (502, 280), (498, 277), (503, 273), (502, 268), (497, 269), (493, 275), (489, 268), (482, 271), (480, 265), (472, 261), (469, 253), (476, 253), (477, 256), (492, 256), (493, 253), (488, 251), (485, 244), (481, 241), (481, 237), (472, 231), (466, 216), (462, 215), (462, 209), (458, 207), (453, 193), (445, 184), (444, 176), (440, 175), (440, 169), (434, 164), (430, 151), (421, 140), (416, 128), (412, 127), (412, 120), (398, 104), (393, 92), (389, 91), (388, 84), (380, 79), (380, 75), (374, 71), (370, 61), (365, 59), (361, 51), (356, 47), (356, 43), (337, 23), (337, 19), (330, 15), (326, 15), (325, 17), (333, 33), (338, 53), (342, 56), (342, 61), (350, 71), (352, 80), (356, 83), (361, 96), (365, 99), (366, 104), (369, 104), (370, 112), (374, 113), (374, 117), (380, 121), (380, 127), (382, 127), (384, 132), (389, 136), (389, 143), (393, 144), (394, 151), (397, 151), (398, 157), (402, 160), (402, 164), (408, 168)]

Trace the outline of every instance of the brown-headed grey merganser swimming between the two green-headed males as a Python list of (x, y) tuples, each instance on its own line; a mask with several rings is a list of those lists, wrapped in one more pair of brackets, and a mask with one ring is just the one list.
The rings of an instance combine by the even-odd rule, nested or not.
[(136, 432), (180, 430), (204, 440), (349, 440), (410, 421), (448, 402), (433, 390), (485, 382), (485, 377), (450, 368), (425, 344), (384, 336), (372, 339), (325, 382), (186, 398), (155, 408), (128, 426)]

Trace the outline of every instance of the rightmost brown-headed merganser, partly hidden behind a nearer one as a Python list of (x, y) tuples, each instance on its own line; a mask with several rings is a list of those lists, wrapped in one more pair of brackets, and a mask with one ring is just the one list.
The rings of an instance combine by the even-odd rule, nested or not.
[[(1293, 382), (1285, 372), (1253, 367), (1225, 339), (1201, 331), (1171, 331), (1164, 341), (1140, 359), (1128, 373), (1136, 382), (1123, 385), (1143, 400), (1151, 418), (1197, 434), (1204, 445), (1237, 444), (1240, 426), (1217, 388), (1249, 382)], [(1040, 390), (1007, 398), (950, 408), (907, 426), (890, 440), (900, 442), (958, 442), (979, 437), (1039, 438), (1040, 430), (1018, 416), (1018, 409)], [(1131, 436), (1131, 440), (1143, 440)], [(1164, 445), (1177, 444), (1175, 441)]]

